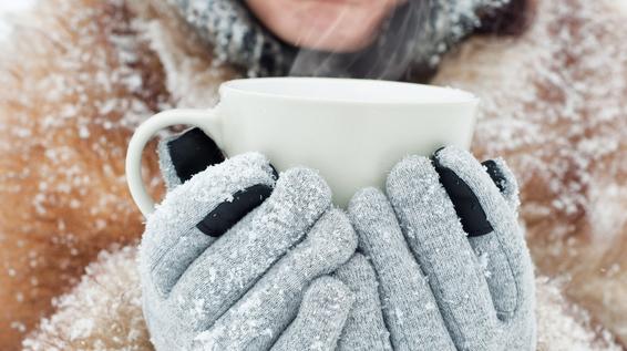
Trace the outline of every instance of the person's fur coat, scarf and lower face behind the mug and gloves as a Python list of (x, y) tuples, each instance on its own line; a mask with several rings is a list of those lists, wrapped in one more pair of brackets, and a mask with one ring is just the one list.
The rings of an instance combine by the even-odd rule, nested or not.
[(480, 96), (473, 152), (521, 185), (539, 349), (625, 350), (627, 1), (321, 2), (0, 0), (0, 350), (150, 350), (129, 138), (269, 75)]

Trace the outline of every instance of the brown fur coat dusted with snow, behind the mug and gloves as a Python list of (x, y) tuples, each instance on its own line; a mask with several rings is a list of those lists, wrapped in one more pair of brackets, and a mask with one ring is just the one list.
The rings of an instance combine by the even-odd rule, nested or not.
[[(238, 74), (158, 3), (41, 0), (0, 54), (1, 350), (29, 332), (30, 349), (148, 345), (132, 249), (104, 254), (71, 289), (101, 250), (141, 235), (123, 177), (133, 128), (158, 110), (213, 104)], [(539, 301), (558, 311), (541, 311), (541, 323), (572, 326), (579, 345), (605, 343), (597, 323), (627, 342), (625, 16), (603, 1), (542, 0), (522, 37), (473, 39), (435, 79), (484, 100), (475, 152), (513, 165), (534, 259), (592, 312), (575, 321), (583, 314), (541, 280)], [(145, 165), (160, 194), (154, 153)], [(94, 319), (99, 302), (109, 313)]]

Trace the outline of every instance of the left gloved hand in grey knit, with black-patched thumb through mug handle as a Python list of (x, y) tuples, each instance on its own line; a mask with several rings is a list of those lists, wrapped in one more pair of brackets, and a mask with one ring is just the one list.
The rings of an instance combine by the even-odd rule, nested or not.
[(264, 156), (222, 162), (214, 148), (198, 130), (160, 146), (169, 192), (140, 250), (152, 342), (158, 351), (332, 350), (353, 295), (326, 275), (357, 247), (348, 218), (312, 171), (277, 180)]

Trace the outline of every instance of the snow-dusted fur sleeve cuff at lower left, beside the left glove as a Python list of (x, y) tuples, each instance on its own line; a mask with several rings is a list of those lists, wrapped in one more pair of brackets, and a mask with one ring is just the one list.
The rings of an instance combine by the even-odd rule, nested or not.
[(142, 314), (137, 250), (102, 251), (58, 312), (23, 341), (24, 350), (152, 350)]

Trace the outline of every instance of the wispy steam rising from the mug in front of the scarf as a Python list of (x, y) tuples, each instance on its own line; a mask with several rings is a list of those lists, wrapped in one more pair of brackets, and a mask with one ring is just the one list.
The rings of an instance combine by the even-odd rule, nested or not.
[[(390, 13), (368, 48), (353, 53), (301, 49), (289, 75), (424, 81), (453, 44), (510, 0), (408, 0)], [(337, 21), (341, 21), (341, 16)], [(332, 35), (330, 27), (328, 33)]]

